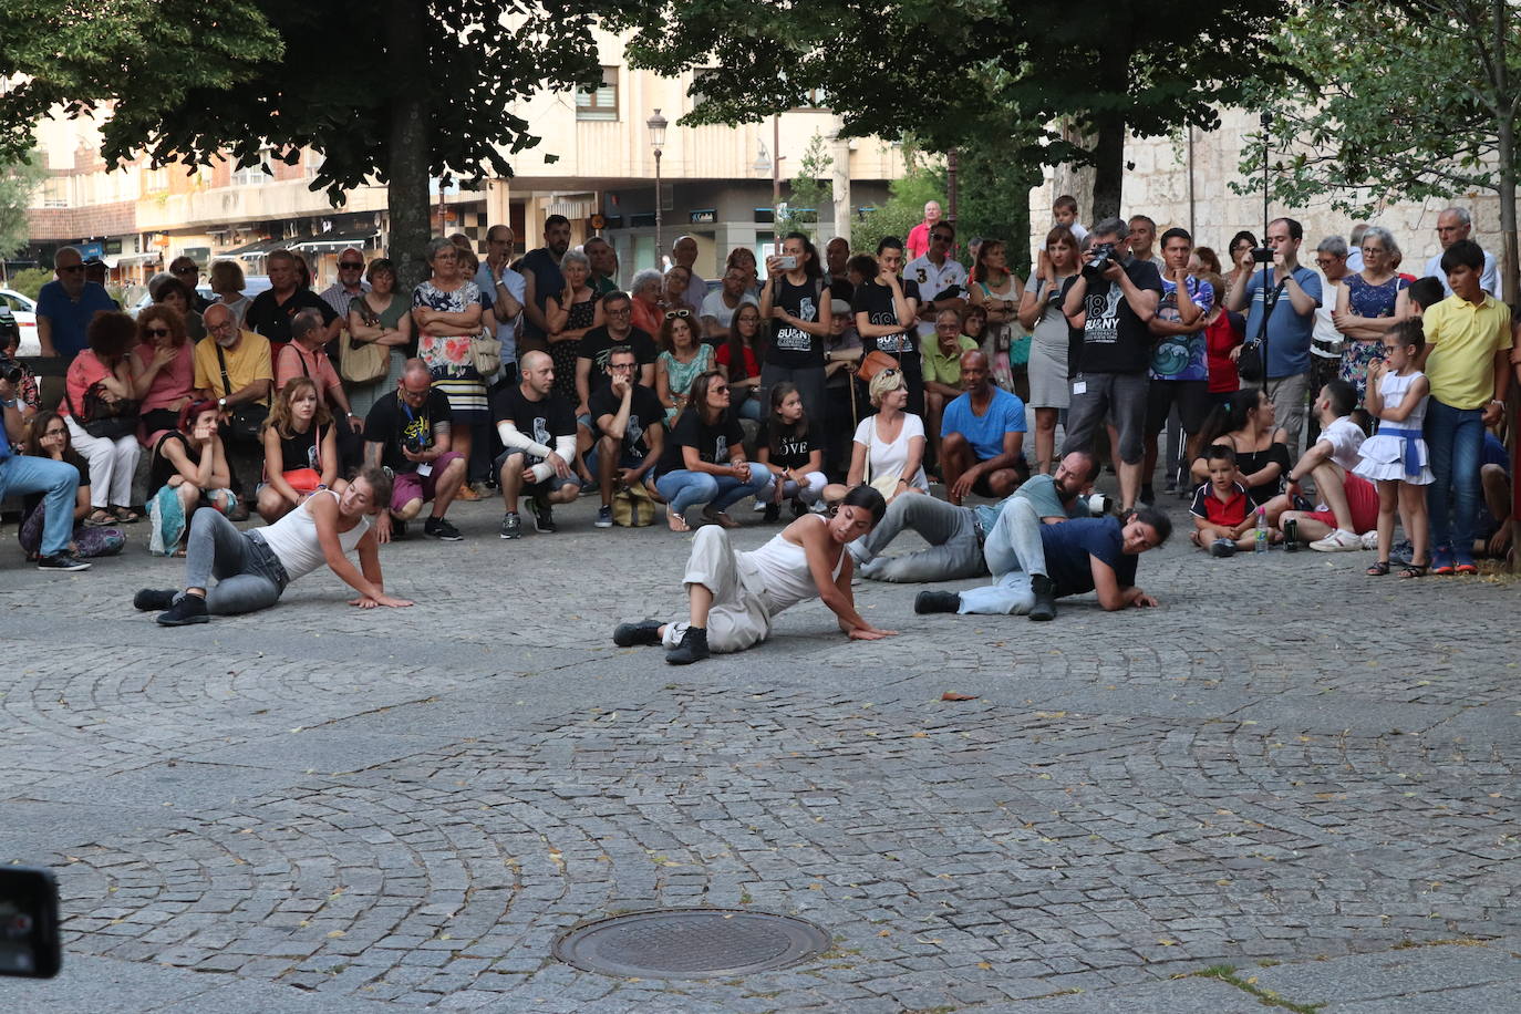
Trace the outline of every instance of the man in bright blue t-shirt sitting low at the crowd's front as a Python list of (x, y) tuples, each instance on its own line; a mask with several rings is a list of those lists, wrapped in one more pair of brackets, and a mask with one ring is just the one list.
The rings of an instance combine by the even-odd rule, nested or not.
[(969, 493), (1007, 497), (1030, 477), (1025, 403), (992, 382), (987, 356), (980, 351), (961, 353), (961, 391), (940, 423), (946, 499), (960, 506)]

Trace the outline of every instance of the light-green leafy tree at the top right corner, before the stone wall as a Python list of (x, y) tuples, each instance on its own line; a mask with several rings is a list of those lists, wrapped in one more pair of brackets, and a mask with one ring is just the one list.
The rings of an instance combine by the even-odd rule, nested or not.
[[(1272, 137), (1291, 138), (1270, 157), (1273, 193), (1290, 205), (1328, 196), (1360, 217), (1386, 201), (1498, 193), (1504, 293), (1521, 295), (1521, 3), (1313, 0), (1284, 26), (1279, 47), (1316, 88), (1297, 102), (1253, 88), (1259, 102), (1278, 99)], [(1258, 137), (1241, 152), (1238, 192), (1256, 185), (1261, 164)]]

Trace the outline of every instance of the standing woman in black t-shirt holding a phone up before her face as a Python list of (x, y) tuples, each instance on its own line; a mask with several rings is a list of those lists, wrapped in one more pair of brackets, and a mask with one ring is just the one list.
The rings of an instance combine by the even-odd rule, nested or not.
[(818, 251), (802, 233), (788, 233), (782, 254), (767, 257), (765, 284), (760, 287), (760, 319), (771, 322), (771, 344), (760, 368), (762, 401), (765, 391), (783, 380), (803, 395), (803, 410), (815, 424), (824, 424), (824, 344), (834, 319), (829, 286), (818, 263)]

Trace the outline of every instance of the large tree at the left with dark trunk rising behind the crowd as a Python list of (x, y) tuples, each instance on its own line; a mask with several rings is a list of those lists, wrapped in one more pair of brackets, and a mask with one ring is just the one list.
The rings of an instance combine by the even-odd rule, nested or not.
[[(540, 88), (595, 87), (602, 73), (596, 15), (570, 0), (18, 2), (49, 14), (70, 43), (49, 46), (12, 24), (29, 46), (0, 70), (46, 87), (0, 105), (11, 135), (18, 111), (29, 125), (55, 102), (110, 102), (108, 161), (146, 151), (187, 167), (224, 155), (294, 164), (310, 147), (322, 157), (312, 189), (335, 205), (370, 179), (388, 185), (403, 283), (424, 271), (429, 179), (510, 176), (508, 157), (540, 141), (517, 103)], [(103, 44), (78, 27), (108, 18)]]

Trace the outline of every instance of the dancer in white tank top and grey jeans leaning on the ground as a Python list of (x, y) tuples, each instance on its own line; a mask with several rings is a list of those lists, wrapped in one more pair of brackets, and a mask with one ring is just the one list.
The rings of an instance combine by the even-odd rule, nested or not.
[[(186, 544), (186, 590), (143, 588), (132, 605), (161, 610), (163, 626), (205, 623), (213, 613), (268, 610), (286, 585), (322, 564), (359, 593), (350, 605), (412, 605), (388, 596), (380, 578), (380, 547), (370, 520), (389, 502), (391, 476), (365, 467), (347, 486), (318, 490), (268, 528), (240, 532), (219, 511), (201, 508)], [(348, 559), (356, 549), (359, 567)]]

